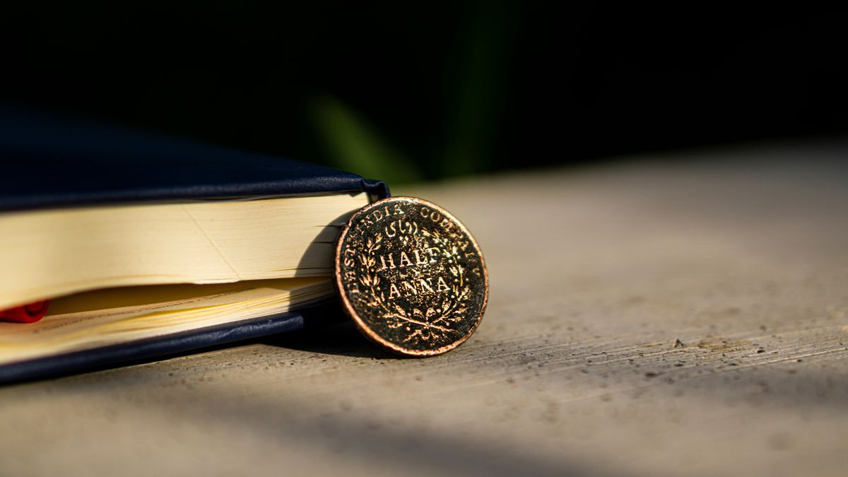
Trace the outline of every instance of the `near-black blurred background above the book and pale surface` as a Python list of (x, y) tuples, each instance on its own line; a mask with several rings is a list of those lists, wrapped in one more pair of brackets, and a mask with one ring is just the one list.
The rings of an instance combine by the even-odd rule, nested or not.
[(393, 182), (840, 134), (846, 16), (561, 3), (6, 9), (5, 102)]

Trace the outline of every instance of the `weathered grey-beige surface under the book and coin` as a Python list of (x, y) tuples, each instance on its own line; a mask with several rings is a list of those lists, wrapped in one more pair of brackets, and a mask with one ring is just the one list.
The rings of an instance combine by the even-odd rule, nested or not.
[(845, 475), (843, 151), (399, 188), (486, 254), (465, 345), (343, 326), (6, 387), (0, 474)]

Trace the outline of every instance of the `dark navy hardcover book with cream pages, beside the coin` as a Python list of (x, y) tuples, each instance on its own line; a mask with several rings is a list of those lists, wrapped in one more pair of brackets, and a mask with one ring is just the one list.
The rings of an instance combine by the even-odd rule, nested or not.
[(0, 382), (341, 320), (333, 243), (385, 183), (0, 109)]

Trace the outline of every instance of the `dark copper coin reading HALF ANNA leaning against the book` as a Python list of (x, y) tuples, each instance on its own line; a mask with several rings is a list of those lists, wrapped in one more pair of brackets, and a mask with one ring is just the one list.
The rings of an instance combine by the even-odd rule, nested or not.
[(350, 217), (336, 246), (344, 310), (366, 337), (408, 356), (467, 340), (486, 309), (480, 248), (454, 216), (413, 197), (390, 197)]

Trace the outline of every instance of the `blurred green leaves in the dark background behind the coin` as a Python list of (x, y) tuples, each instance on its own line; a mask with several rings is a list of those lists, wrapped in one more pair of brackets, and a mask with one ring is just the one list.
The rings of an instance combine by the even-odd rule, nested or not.
[(432, 129), (430, 148), (400, 150), (382, 125), (366, 119), (367, 109), (356, 110), (330, 95), (314, 98), (308, 114), (331, 165), (393, 184), (488, 171), (505, 97), (504, 53), (516, 10), (506, 2), (469, 4), (468, 25), (456, 40), (455, 56), (445, 56), (438, 65), (451, 80), (439, 109), (443, 126)]

